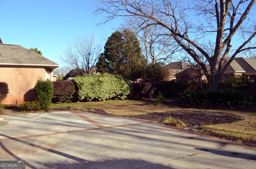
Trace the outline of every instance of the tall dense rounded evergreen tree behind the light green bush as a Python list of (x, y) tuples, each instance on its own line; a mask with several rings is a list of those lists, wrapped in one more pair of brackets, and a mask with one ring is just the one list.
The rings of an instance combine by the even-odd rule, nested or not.
[(101, 73), (119, 74), (129, 79), (141, 78), (145, 60), (136, 35), (128, 29), (112, 33), (96, 66)]

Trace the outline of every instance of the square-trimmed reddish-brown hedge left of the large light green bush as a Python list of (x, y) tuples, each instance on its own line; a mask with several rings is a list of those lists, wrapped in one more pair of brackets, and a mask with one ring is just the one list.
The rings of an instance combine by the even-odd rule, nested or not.
[(53, 88), (53, 103), (68, 103), (74, 99), (74, 94), (76, 92), (74, 82), (65, 80), (53, 82)]

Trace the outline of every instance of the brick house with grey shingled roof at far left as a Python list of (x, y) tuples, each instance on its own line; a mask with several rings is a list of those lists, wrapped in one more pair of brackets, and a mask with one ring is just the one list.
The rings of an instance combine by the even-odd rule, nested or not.
[(34, 98), (33, 88), (38, 76), (53, 81), (52, 71), (58, 64), (20, 45), (0, 41), (0, 82), (9, 87), (2, 104), (19, 104)]

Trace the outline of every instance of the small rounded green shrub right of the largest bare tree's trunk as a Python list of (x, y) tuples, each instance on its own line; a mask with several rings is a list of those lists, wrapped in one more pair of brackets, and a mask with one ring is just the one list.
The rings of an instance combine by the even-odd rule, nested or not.
[(234, 76), (228, 78), (228, 88), (230, 89), (239, 89), (241, 87), (246, 87), (247, 83), (250, 81), (250, 78), (247, 76)]

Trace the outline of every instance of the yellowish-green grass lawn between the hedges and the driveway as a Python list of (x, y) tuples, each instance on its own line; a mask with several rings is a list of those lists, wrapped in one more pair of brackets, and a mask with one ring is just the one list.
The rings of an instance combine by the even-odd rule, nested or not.
[[(233, 140), (239, 143), (247, 144), (256, 147), (256, 109), (255, 107), (247, 107), (244, 109), (195, 109), (179, 106), (175, 98), (172, 100), (166, 100), (166, 104), (162, 107), (154, 105), (152, 100), (107, 100), (102, 102), (77, 102), (68, 104), (51, 104), (52, 109), (74, 109), (79, 111), (89, 111), (98, 113), (99, 111), (106, 114), (124, 117), (140, 117), (143, 119), (152, 120), (148, 118), (151, 114), (158, 114), (157, 117), (166, 117), (168, 113), (181, 112), (183, 118), (181, 121), (187, 120), (187, 118), (193, 119), (193, 112), (197, 114), (234, 114), (236, 116), (243, 116), (243, 120), (236, 122), (228, 122), (228, 119), (223, 120), (221, 123), (214, 124), (214, 120), (208, 124), (200, 125), (199, 132), (209, 135)], [(6, 109), (14, 109), (8, 105), (4, 105)], [(102, 111), (103, 110), (103, 111)], [(162, 114), (162, 116), (161, 116)], [(185, 118), (184, 118), (185, 116)], [(190, 117), (189, 117), (190, 116)], [(155, 119), (160, 122), (163, 119)], [(186, 123), (186, 121), (185, 121)]]

